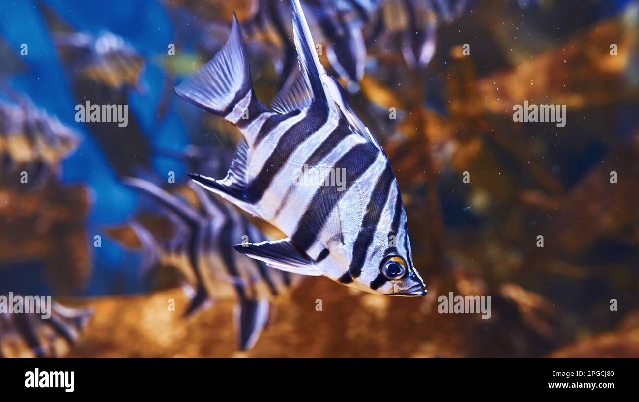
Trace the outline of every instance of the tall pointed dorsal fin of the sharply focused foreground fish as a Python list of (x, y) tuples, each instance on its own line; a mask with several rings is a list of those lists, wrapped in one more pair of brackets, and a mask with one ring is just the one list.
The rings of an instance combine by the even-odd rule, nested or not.
[(326, 70), (319, 63), (319, 57), (311, 37), (311, 30), (306, 22), (306, 17), (304, 17), (300, 0), (291, 0), (291, 9), (293, 11), (295, 48), (300, 62), (300, 71), (302, 71), (302, 76), (304, 77), (305, 89), (311, 94), (312, 101), (323, 102), (328, 107), (332, 107), (330, 93), (322, 84), (322, 75), (326, 74)]

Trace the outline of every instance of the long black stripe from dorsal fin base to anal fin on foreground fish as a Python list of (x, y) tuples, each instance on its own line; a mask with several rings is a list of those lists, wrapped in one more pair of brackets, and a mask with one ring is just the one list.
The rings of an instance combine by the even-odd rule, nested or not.
[[(328, 108), (323, 105), (314, 104), (309, 108), (307, 115), (298, 123), (293, 124), (286, 130), (277, 141), (275, 149), (266, 158), (262, 170), (250, 182), (247, 188), (246, 200), (255, 204), (263, 197), (266, 189), (270, 186), (275, 175), (284, 167), (289, 156), (295, 149), (312, 133), (318, 131), (328, 120)], [(309, 134), (311, 133), (311, 134)]]

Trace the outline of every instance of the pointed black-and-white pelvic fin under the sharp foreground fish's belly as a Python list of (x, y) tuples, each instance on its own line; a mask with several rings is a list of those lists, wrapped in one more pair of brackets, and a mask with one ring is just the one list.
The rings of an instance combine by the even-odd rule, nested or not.
[(312, 258), (300, 250), (288, 237), (271, 242), (238, 244), (235, 249), (243, 255), (263, 261), (281, 271), (307, 276), (322, 275), (316, 269)]

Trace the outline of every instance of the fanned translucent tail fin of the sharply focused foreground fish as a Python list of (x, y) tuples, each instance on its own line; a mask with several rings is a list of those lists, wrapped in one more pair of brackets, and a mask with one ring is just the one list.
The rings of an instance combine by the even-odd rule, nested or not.
[(235, 14), (224, 47), (174, 91), (197, 107), (233, 124), (267, 110), (253, 91), (242, 30)]

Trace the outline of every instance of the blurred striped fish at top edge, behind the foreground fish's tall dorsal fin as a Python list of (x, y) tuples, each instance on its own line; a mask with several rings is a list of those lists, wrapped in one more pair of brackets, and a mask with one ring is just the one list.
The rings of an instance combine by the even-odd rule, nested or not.
[[(366, 45), (362, 36), (364, 24), (379, 8), (380, 0), (307, 0), (311, 11), (311, 26), (318, 40), (327, 42), (327, 57), (337, 74), (354, 87), (364, 76)], [(268, 29), (278, 36), (284, 47), (281, 75), (291, 77), (297, 69), (295, 46), (291, 43), (288, 6), (282, 0), (260, 0), (255, 15), (243, 22), (249, 33), (264, 33)]]

